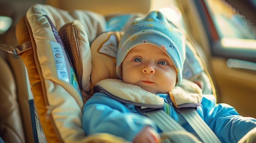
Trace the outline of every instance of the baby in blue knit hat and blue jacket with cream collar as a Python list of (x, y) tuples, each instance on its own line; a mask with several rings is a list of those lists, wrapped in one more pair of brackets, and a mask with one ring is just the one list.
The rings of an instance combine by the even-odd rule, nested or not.
[(256, 119), (241, 117), (227, 104), (216, 104), (211, 96), (202, 95), (196, 84), (182, 79), (184, 41), (184, 35), (159, 11), (136, 18), (119, 44), (119, 79), (99, 81), (84, 105), (85, 133), (109, 133), (134, 143), (160, 143), (162, 130), (135, 106), (161, 108), (191, 133), (195, 131), (175, 108), (196, 107), (225, 143), (238, 142), (255, 128)]

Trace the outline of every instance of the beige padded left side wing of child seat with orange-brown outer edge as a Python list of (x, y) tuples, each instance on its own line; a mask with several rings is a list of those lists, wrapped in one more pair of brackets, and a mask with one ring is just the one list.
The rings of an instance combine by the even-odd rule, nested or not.
[[(31, 7), (28, 13), (36, 8)], [(31, 41), (33, 46), (33, 49), (19, 55), (27, 67), (34, 103), (47, 142), (125, 143), (123, 139), (110, 134), (85, 135), (81, 128), (81, 95), (56, 75), (49, 44), (56, 43), (53, 29), (45, 15), (28, 13), (17, 24), (16, 36), (18, 44)]]

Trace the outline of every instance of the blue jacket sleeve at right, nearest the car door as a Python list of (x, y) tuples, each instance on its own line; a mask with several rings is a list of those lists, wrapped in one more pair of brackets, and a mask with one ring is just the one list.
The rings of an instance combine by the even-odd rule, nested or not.
[(204, 121), (222, 143), (237, 143), (247, 132), (256, 127), (256, 119), (243, 117), (228, 104), (216, 104), (215, 98), (202, 101)]

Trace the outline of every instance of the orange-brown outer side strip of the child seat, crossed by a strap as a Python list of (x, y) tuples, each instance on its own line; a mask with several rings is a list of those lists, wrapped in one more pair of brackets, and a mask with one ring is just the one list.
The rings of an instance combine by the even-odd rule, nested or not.
[[(26, 16), (22, 17), (18, 24), (16, 25), (16, 37), (18, 44), (22, 44), (24, 42), (30, 41), (33, 43), (34, 38), (31, 39), (29, 30), (30, 27), (27, 28), (27, 19)], [(29, 25), (28, 25), (29, 26)], [(31, 31), (30, 31), (31, 33)], [(38, 117), (40, 119), (42, 128), (45, 132), (45, 136), (47, 141), (52, 141), (58, 143), (58, 139), (56, 134), (52, 134), (54, 132), (54, 127), (52, 126), (51, 121), (45, 120), (45, 114), (47, 112), (45, 99), (43, 97), (43, 91), (40, 83), (40, 77), (36, 68), (36, 63), (34, 59), (34, 50), (30, 49), (23, 53), (20, 53), (20, 58), (23, 60), (23, 63), (27, 67), (27, 72), (29, 75), (29, 81), (31, 85), (31, 91), (34, 97), (34, 103), (37, 108)]]

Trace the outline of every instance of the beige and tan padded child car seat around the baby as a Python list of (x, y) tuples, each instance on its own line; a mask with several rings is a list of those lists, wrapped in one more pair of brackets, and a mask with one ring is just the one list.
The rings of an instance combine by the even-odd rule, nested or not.
[[(68, 12), (43, 4), (29, 8), (16, 26), (19, 46), (4, 50), (20, 57), (27, 69), (35, 142), (126, 142), (110, 134), (86, 136), (81, 128), (82, 107), (97, 81), (116, 78), (115, 55), (99, 50), (110, 48), (108, 43), (116, 47), (120, 31), (141, 15), (129, 13), (106, 19), (92, 11)], [(122, 19), (126, 23), (120, 26), (118, 20)], [(207, 69), (189, 38), (186, 50), (184, 78), (198, 83), (204, 94), (215, 94)], [(99, 67), (106, 67), (106, 73), (97, 73)]]

